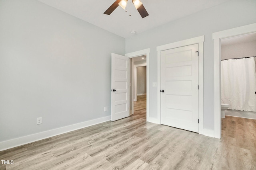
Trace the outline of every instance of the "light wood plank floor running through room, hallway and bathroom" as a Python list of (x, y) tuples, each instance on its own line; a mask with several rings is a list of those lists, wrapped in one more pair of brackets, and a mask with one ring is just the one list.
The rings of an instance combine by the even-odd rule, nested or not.
[(222, 139), (146, 122), (146, 96), (134, 115), (0, 152), (7, 170), (255, 170), (256, 120), (222, 119)]

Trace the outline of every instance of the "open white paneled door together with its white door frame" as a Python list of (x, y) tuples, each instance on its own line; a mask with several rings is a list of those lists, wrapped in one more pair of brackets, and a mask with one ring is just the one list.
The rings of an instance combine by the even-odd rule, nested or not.
[[(132, 58), (144, 55), (149, 57), (150, 49), (144, 49), (127, 53), (125, 56), (112, 53), (112, 73), (111, 73), (111, 120), (115, 121), (129, 117), (134, 111), (131, 77), (133, 74)], [(128, 62), (128, 63), (127, 63)], [(146, 59), (146, 121), (149, 117), (149, 60)], [(118, 85), (116, 88), (116, 85)], [(122, 86), (121, 86), (122, 85)], [(120, 87), (120, 88), (119, 88)], [(121, 90), (125, 90), (124, 92)], [(116, 100), (116, 96), (118, 97)], [(121, 98), (122, 97), (122, 98)], [(132, 101), (132, 102), (131, 102)], [(122, 107), (121, 107), (122, 106)], [(117, 108), (117, 109), (116, 109)]]

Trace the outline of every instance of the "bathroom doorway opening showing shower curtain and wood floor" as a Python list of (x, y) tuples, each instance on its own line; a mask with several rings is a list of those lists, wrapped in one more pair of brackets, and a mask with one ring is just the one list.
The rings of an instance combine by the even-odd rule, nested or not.
[(223, 137), (250, 139), (256, 122), (256, 33), (220, 40)]

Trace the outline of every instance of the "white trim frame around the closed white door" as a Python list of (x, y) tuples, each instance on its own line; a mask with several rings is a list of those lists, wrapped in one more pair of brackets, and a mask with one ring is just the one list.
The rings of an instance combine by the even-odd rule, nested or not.
[(198, 133), (210, 136), (208, 134), (204, 134), (204, 35), (200, 37), (194, 37), (191, 39), (186, 39), (183, 41), (178, 41), (166, 45), (161, 45), (156, 47), (157, 50), (157, 118), (158, 123), (161, 124), (161, 51), (174, 49), (178, 47), (184, 47), (187, 45), (198, 44), (198, 118), (199, 118), (199, 129)]

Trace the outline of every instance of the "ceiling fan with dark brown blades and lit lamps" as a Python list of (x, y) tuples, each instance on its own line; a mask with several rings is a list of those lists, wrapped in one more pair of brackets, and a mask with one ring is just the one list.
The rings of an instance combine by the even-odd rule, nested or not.
[[(142, 2), (140, 2), (140, 0), (130, 0), (130, 1), (132, 1), (136, 10), (138, 10), (138, 12), (140, 13), (140, 16), (142, 18), (145, 18), (146, 16), (149, 15), (148, 12), (146, 11), (145, 7), (143, 6)], [(106, 10), (106, 12), (104, 12), (104, 14), (110, 15), (118, 6), (121, 6), (125, 10), (127, 2), (128, 2), (128, 0), (116, 0), (116, 2), (114, 2), (114, 4), (112, 4)]]

